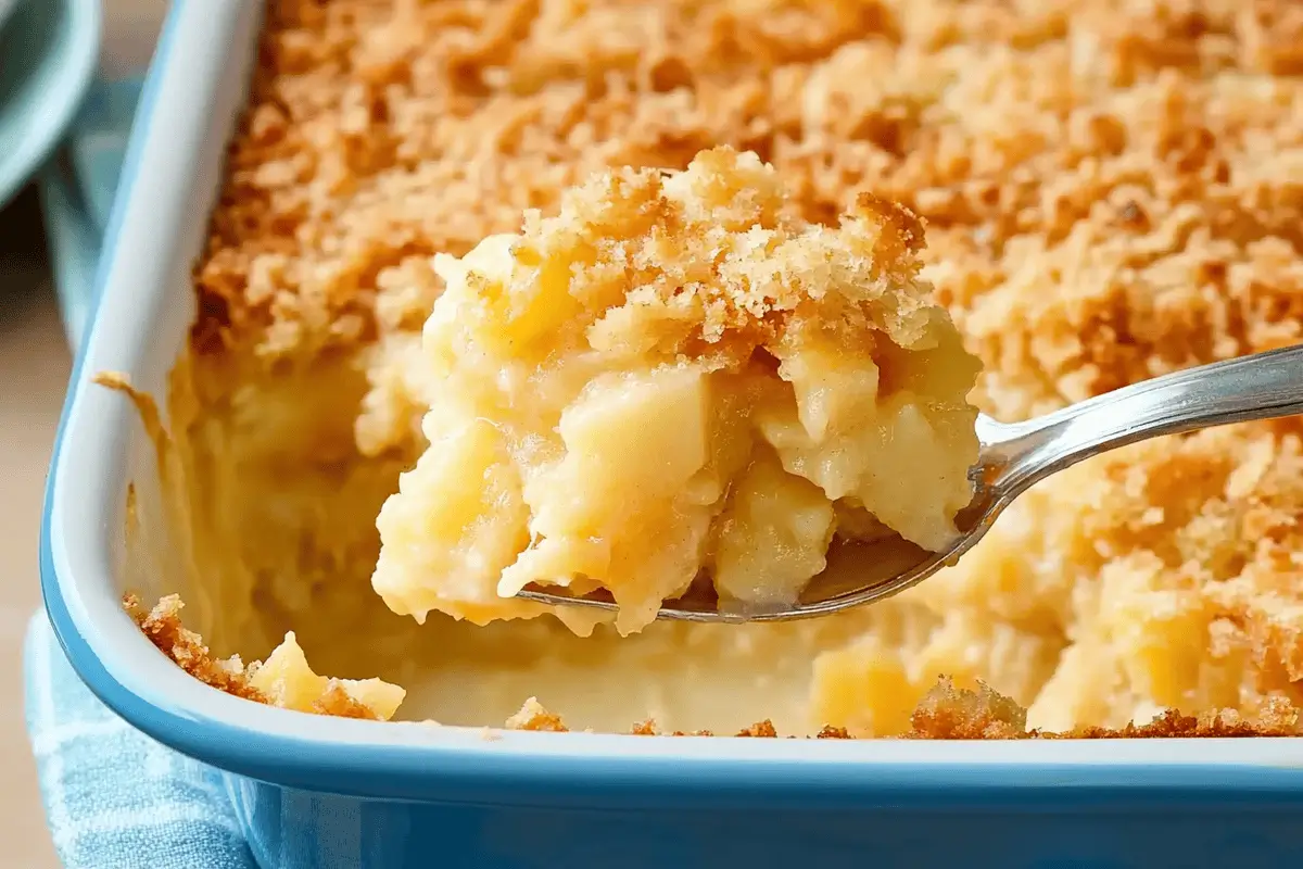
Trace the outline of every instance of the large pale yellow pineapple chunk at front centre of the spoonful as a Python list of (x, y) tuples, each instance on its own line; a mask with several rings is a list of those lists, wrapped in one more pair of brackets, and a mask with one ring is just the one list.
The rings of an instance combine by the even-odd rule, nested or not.
[(696, 366), (594, 380), (562, 414), (564, 459), (526, 486), (533, 543), (498, 594), (581, 576), (619, 589), (623, 618), (650, 621), (701, 564), (718, 499), (718, 486), (694, 483), (710, 460), (709, 412)]

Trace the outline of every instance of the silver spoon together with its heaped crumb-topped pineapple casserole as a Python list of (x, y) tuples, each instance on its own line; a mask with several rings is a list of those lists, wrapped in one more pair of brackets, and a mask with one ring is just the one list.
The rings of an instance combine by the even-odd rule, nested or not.
[(1081, 459), (1303, 410), (1289, 349), (980, 417), (923, 242), (872, 195), (807, 221), (770, 167), (717, 149), (437, 257), (410, 373), (429, 446), (378, 519), (375, 590), (418, 620), (577, 633), (826, 615), (954, 563)]

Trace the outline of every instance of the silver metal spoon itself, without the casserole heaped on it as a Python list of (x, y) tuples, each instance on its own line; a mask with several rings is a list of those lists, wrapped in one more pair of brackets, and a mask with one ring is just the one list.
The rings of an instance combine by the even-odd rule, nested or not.
[[(831, 615), (882, 601), (952, 565), (999, 513), (1050, 474), (1139, 440), (1231, 422), (1303, 413), (1303, 345), (1216, 362), (1136, 383), (1018, 423), (977, 418), (981, 453), (969, 472), (973, 500), (956, 517), (959, 537), (941, 552), (903, 541), (846, 545), (800, 599), (771, 610), (721, 607), (713, 595), (666, 601), (657, 618), (683, 621), (783, 621)], [(908, 473), (908, 472), (906, 472)], [(526, 588), (517, 597), (554, 606), (618, 610), (606, 599)]]

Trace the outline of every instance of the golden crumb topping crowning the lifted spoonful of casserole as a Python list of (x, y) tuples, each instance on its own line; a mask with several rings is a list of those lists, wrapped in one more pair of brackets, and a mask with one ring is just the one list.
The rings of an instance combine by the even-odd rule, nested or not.
[(562, 193), (555, 216), (530, 210), (519, 233), (490, 236), (464, 258), (434, 257), (460, 292), (434, 306), (426, 331), (464, 332), (427, 352), (446, 375), (472, 349), (463, 343), (490, 353), (509, 343), (537, 362), (549, 330), (625, 360), (714, 369), (757, 350), (780, 360), (816, 332), (847, 354), (878, 341), (936, 347), (945, 315), (919, 283), (920, 220), (865, 193), (822, 227), (794, 216), (788, 195), (773, 167), (728, 147), (683, 172), (585, 178)]

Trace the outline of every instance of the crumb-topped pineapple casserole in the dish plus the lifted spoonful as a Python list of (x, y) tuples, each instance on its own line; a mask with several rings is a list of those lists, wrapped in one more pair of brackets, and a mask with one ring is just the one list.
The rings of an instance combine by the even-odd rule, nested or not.
[[(727, 255), (702, 264), (701, 289), (678, 302), (659, 285), (645, 298), (625, 292), (644, 272), (670, 280), (684, 267), (674, 255), (653, 262), (662, 236), (652, 227), (676, 208), (723, 202), (710, 199), (722, 192), (687, 192), (693, 173), (723, 160), (732, 163), (722, 177), (753, 176), (752, 198), (734, 197), (731, 208), (758, 215), (765, 190), (787, 192), (758, 220), (779, 240), (809, 236), (833, 251), (887, 238), (898, 219), (917, 215), (921, 246), (874, 261), (895, 263), (893, 298), (912, 300), (916, 313), (883, 321), (859, 356), (835, 344), (792, 356), (797, 330), (747, 339), (773, 361), (728, 357), (724, 336), (743, 309), (721, 305), (705, 326), (674, 317), (675, 305), (715, 300), (711, 281), (731, 263), (773, 258), (747, 249), (749, 231), (723, 215), (715, 232)], [(625, 202), (646, 190), (666, 211), (602, 212), (598, 203), (620, 202), (602, 198), (603, 184), (623, 185)], [(590, 225), (562, 232), (584, 208), (597, 208)], [(847, 231), (856, 220), (870, 228), (863, 237)], [(607, 241), (618, 232), (627, 240), (616, 255)], [(601, 244), (582, 249), (585, 238)], [(945, 529), (945, 511), (909, 507), (915, 496), (959, 496), (939, 466), (926, 468), (936, 495), (874, 500), (859, 481), (830, 486), (818, 478), (826, 468), (799, 460), (812, 430), (863, 413), (857, 403), (873, 391), (856, 380), (856, 360), (878, 365), (873, 412), (883, 413), (887, 396), (903, 395), (883, 386), (900, 373), (891, 345), (946, 345), (945, 321), (924, 313), (932, 301), (981, 362), (968, 399), (1016, 421), (1298, 343), (1300, 249), (1303, 9), (1291, 0), (271, 0), (168, 396), (164, 515), (186, 568), (150, 593), (182, 594), (207, 645), (189, 633), (179, 641), (175, 612), (151, 636), (241, 696), (347, 713), (356, 711), (347, 697), (371, 701), (349, 694), (343, 677), (379, 676), (407, 691), (399, 717), (446, 724), (1295, 732), (1296, 420), (1084, 463), (1020, 499), (956, 567), (860, 611), (616, 628), (645, 621), (702, 560), (714, 559), (721, 594), (745, 599), (790, 593), (817, 569), (829, 529), (873, 533), (870, 515), (916, 541)], [(907, 275), (912, 257), (917, 276)], [(597, 268), (579, 283), (549, 271), (576, 262)], [(512, 328), (523, 330), (519, 345), (506, 348)], [(463, 353), (472, 339), (478, 357)], [(511, 365), (500, 383), (483, 377), (552, 341), (593, 348), (590, 367), (551, 358), (530, 369), (542, 373), (536, 382)], [(936, 395), (962, 414), (955, 396), (972, 369), (949, 354), (952, 379)], [(782, 413), (766, 421), (764, 403), (749, 405), (749, 464), (731, 459), (737, 466), (724, 473), (709, 465), (722, 436), (711, 425), (724, 401), (745, 395), (752, 369), (783, 392)], [(801, 390), (808, 400), (820, 378), (837, 380), (825, 395), (837, 401), (803, 410)], [(609, 392), (615, 383), (628, 390)], [(509, 430), (456, 427), (472, 405), (491, 408), (512, 391), (533, 405)], [(694, 427), (633, 422), (670, 401)], [(435, 409), (446, 413), (431, 418)], [(598, 447), (615, 436), (638, 444), (646, 463), (612, 461)], [(615, 512), (597, 512), (607, 489), (549, 502), (569, 490), (542, 486), (546, 474), (581, 473), (569, 443), (594, 444), (585, 461), (601, 466), (582, 473), (601, 486), (633, 486), (620, 474), (646, 474), (637, 479), (648, 485)], [(440, 463), (452, 461), (491, 472), (459, 492), (461, 507), (433, 500), (451, 482), (440, 474), (457, 470)], [(908, 479), (917, 469), (900, 470)], [(662, 478), (671, 474), (681, 482), (674, 490)], [(451, 511), (487, 516), (474, 506), (485, 498), (500, 498), (509, 528), (459, 525)], [(730, 509), (747, 521), (728, 525)], [(607, 551), (581, 529), (635, 512), (675, 533), (659, 533), (636, 571), (607, 572), (641, 538)], [(727, 529), (751, 541), (760, 525), (800, 546), (753, 564), (758, 545), (731, 545)], [(430, 610), (426, 623), (390, 611), (373, 573), (396, 608)], [(581, 575), (609, 584), (631, 621), (498, 618), (530, 615), (504, 610), (499, 591)], [(268, 659), (287, 632), (306, 659), (294, 649)], [(229, 661), (236, 653), (268, 663), (249, 676)], [(306, 661), (341, 679), (297, 687), (287, 674), (313, 672)], [(370, 717), (394, 711), (397, 693), (382, 693)]]

